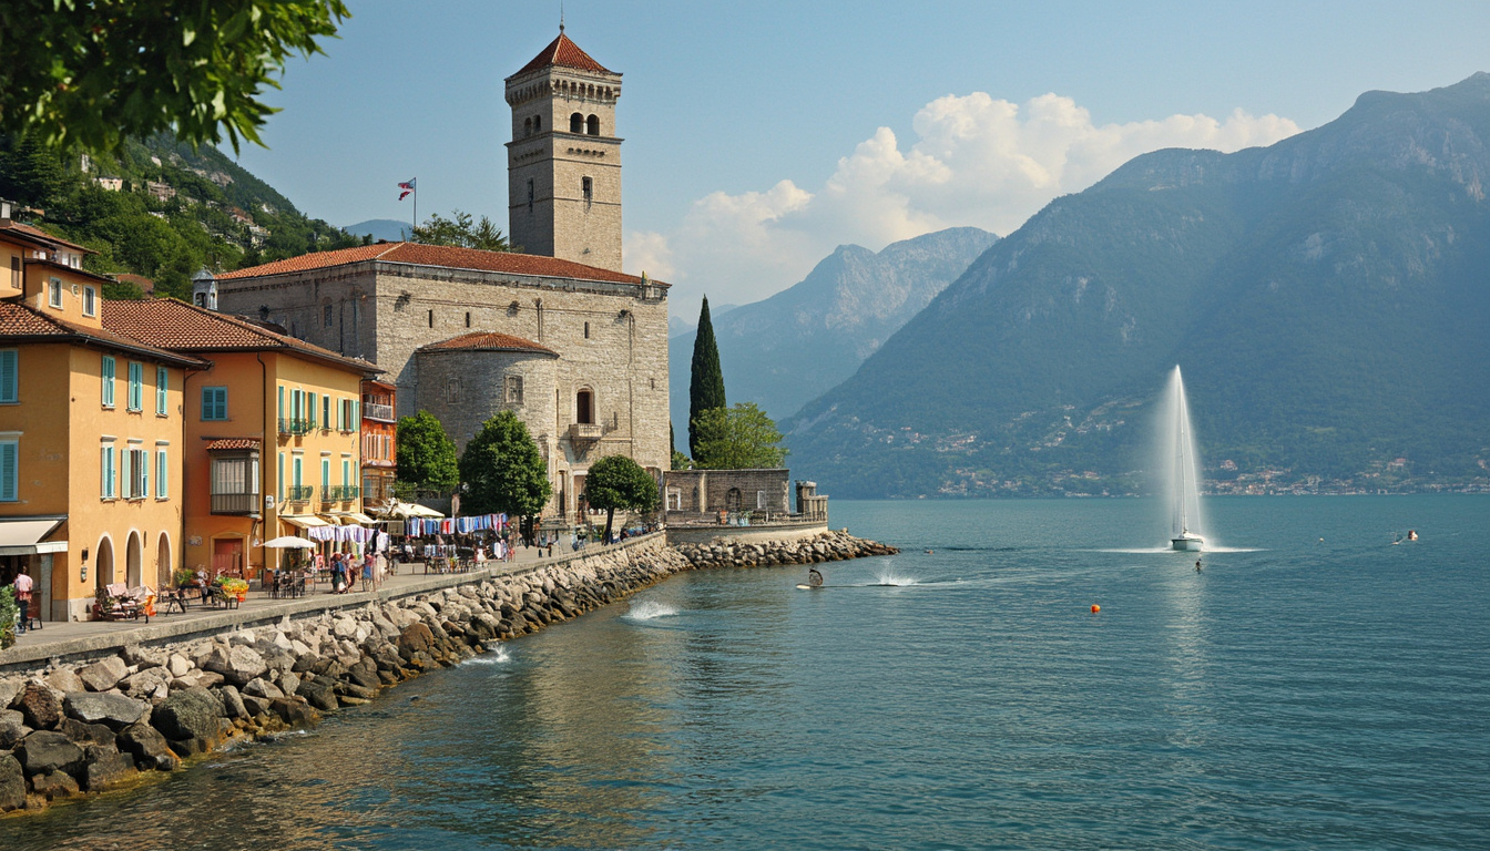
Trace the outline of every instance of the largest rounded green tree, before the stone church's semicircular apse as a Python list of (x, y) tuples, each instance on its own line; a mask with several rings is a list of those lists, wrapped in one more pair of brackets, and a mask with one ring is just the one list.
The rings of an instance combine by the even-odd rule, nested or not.
[(513, 411), (481, 423), (460, 456), (462, 507), (471, 514), (504, 513), (522, 519), (523, 538), (548, 502), (548, 465), (527, 426)]

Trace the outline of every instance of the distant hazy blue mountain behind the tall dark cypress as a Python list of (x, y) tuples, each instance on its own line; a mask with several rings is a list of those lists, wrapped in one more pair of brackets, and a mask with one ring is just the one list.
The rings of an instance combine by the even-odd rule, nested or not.
[[(915, 316), (997, 237), (951, 228), (881, 252), (839, 246), (800, 283), (729, 313), (712, 310), (724, 387), (733, 402), (757, 402), (773, 417), (854, 374), (890, 334)], [(688, 410), (693, 332), (670, 340), (673, 425)]]

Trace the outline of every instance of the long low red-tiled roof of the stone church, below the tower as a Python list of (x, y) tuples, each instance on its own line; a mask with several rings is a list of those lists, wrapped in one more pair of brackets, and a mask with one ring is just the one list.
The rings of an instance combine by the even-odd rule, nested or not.
[[(513, 252), (484, 252), (456, 246), (426, 246), (422, 243), (381, 243), (358, 246), (332, 252), (316, 252), (289, 259), (240, 268), (218, 276), (218, 280), (241, 280), (271, 274), (291, 274), (317, 268), (350, 265), (364, 261), (404, 262), (410, 265), (438, 265), (444, 268), (466, 268), (472, 271), (496, 271), (504, 274), (527, 274), (535, 277), (566, 277), (572, 280), (603, 280), (611, 283), (641, 283), (635, 274), (623, 274), (608, 268), (596, 268), (566, 259), (523, 255)], [(648, 280), (656, 286), (668, 286)]]

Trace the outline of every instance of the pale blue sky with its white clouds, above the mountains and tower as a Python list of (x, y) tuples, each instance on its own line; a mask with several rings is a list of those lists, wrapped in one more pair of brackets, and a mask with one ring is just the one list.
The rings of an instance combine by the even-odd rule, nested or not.
[[(268, 149), (240, 162), (332, 224), (462, 209), (505, 230), (502, 80), (559, 3), (349, 0), (295, 61)], [(568, 34), (624, 73), (626, 267), (673, 311), (744, 304), (840, 243), (951, 225), (1007, 234), (1155, 148), (1235, 151), (1319, 127), (1368, 89), (1490, 70), (1490, 3), (620, 3)]]

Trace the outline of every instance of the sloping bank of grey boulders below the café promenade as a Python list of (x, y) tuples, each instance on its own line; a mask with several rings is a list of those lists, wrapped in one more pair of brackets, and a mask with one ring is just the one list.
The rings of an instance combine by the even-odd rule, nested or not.
[(365, 703), (387, 686), (618, 601), (693, 565), (602, 550), (438, 593), (0, 680), (0, 811), (171, 771), (240, 736)]

